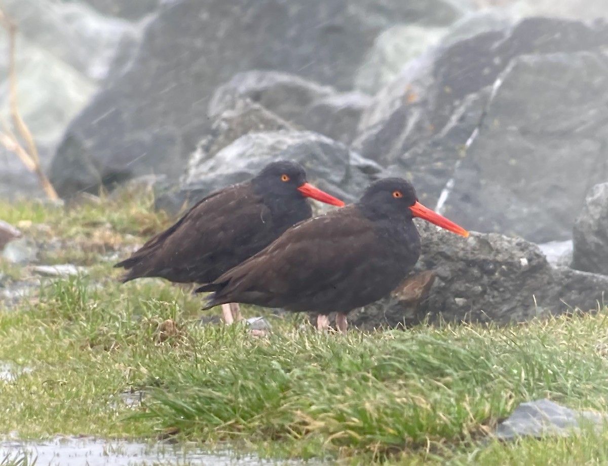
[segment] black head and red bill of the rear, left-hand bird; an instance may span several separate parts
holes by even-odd
[[[286,160],[271,162],[252,179],[252,184],[263,196],[295,199],[309,197],[326,204],[344,206],[339,199],[308,184],[304,167],[297,162]]]

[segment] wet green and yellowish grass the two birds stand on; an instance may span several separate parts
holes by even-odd
[[[143,198],[114,202],[67,213],[27,204],[7,220],[30,220],[31,231],[43,222],[78,248],[95,238],[95,215],[107,215],[103,226],[120,239],[100,241],[105,252],[142,243],[167,222]],[[536,398],[608,411],[606,309],[501,328],[347,336],[319,335],[300,328],[305,317],[287,316],[272,318],[273,333],[255,338],[241,326],[201,325],[201,299],[187,287],[121,285],[111,262],[95,254],[88,278],[47,280],[35,299],[0,310],[0,361],[18,374],[0,381],[0,433],[176,436],[346,464],[603,464],[608,457],[602,433],[488,437],[520,402]],[[246,316],[261,313],[269,315],[244,307]],[[139,389],[143,404],[131,408],[120,394]]]

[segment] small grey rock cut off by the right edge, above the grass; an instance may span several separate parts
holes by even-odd
[[[592,187],[576,218],[572,266],[608,275],[608,183]]]

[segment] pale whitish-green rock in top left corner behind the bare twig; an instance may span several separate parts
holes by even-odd
[[[119,45],[133,47],[137,26],[106,18],[81,2],[7,0],[18,25],[16,77],[19,113],[46,170],[68,123],[108,75]],[[9,117],[9,37],[0,35],[0,114]],[[0,147],[0,196],[43,196],[40,181]]]

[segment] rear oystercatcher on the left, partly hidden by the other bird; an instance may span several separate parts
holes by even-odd
[[[161,277],[177,283],[210,283],[306,220],[306,198],[334,206],[344,202],[306,183],[302,165],[272,162],[250,181],[199,201],[131,257],[114,265],[128,269],[122,282]],[[222,305],[224,321],[240,320],[238,304]]]

